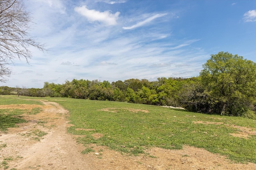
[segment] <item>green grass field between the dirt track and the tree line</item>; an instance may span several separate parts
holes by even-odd
[[[241,129],[255,131],[256,121],[252,119],[206,115],[160,106],[70,98],[0,96],[0,105],[38,102],[24,99],[50,100],[68,109],[68,119],[74,125],[68,128],[68,132],[83,135],[77,140],[87,147],[84,153],[93,150],[89,147],[90,143],[134,155],[146,154],[145,149],[150,147],[182,149],[183,145],[189,145],[228,156],[237,162],[256,163],[256,135],[245,138],[230,135],[245,131]],[[0,109],[1,124],[6,121],[2,120],[6,115],[22,119],[11,110],[1,112]],[[99,137],[95,137],[95,134]]]

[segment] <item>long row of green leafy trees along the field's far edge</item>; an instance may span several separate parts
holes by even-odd
[[[185,107],[189,111],[256,118],[256,63],[219,52],[192,78],[66,80],[44,82],[42,89],[0,87],[0,94],[110,100],[157,106]]]

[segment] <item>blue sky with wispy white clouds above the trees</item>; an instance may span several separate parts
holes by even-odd
[[[198,76],[220,51],[256,62],[255,0],[24,0],[47,51],[0,86]]]

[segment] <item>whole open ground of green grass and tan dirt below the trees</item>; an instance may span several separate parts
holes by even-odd
[[[56,143],[51,135],[58,131],[68,139]],[[14,134],[20,144],[10,139]],[[160,106],[0,96],[0,135],[0,169],[59,169],[61,161],[26,160],[34,156],[20,146],[26,143],[35,153],[45,144],[38,157],[52,143],[68,150],[59,153],[62,162],[65,154],[88,161],[64,169],[256,169],[255,120]],[[15,151],[20,158],[12,145],[23,150]]]

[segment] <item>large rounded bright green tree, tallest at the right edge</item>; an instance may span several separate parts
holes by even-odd
[[[200,72],[208,111],[222,115],[255,116],[256,63],[242,56],[219,52]]]

